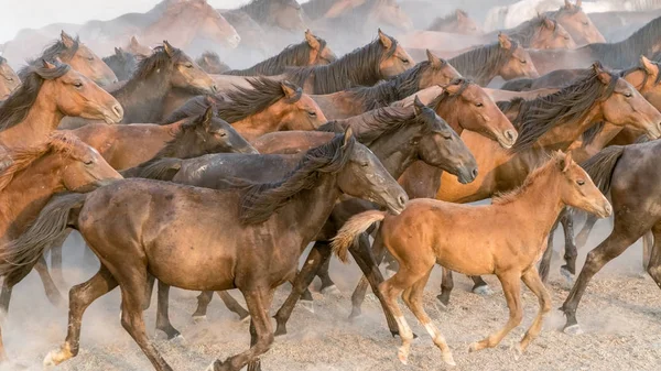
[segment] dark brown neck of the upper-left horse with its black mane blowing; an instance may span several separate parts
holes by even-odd
[[[122,122],[155,122],[170,92],[170,76],[154,72],[143,80],[129,80],[112,96],[124,109]]]

